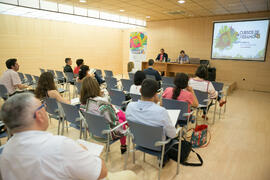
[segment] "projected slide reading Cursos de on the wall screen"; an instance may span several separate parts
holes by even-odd
[[[212,59],[264,61],[269,20],[215,22]]]

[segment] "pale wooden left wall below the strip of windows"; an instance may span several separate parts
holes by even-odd
[[[0,74],[8,58],[18,58],[20,71],[62,70],[65,57],[122,73],[122,31],[73,23],[0,15]]]

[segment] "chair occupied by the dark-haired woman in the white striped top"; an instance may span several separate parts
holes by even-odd
[[[205,114],[204,120],[206,121],[206,116],[208,114],[208,108],[209,108],[209,102],[210,102],[210,99],[208,98],[208,92],[202,92],[202,91],[194,89],[194,93],[195,93],[195,95],[198,99],[198,102],[199,102],[199,106],[197,107],[197,112],[196,112],[196,120],[198,117],[199,110],[201,108],[205,108],[206,114]]]

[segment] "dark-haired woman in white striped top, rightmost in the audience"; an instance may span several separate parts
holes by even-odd
[[[219,101],[219,105],[222,107],[226,103],[226,101],[222,100],[221,97],[218,96],[218,92],[215,90],[213,84],[210,81],[206,80],[208,77],[207,67],[205,65],[200,65],[195,75],[195,78],[189,79],[189,86],[191,86],[195,90],[208,92],[209,97],[211,99],[217,98]],[[204,109],[204,114],[206,114],[206,109]]]

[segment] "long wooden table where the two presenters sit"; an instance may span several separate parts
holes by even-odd
[[[175,76],[176,73],[195,74],[199,64],[178,64],[155,62],[154,69],[160,72],[165,72],[165,76]],[[148,62],[142,62],[142,70],[148,68]]]

